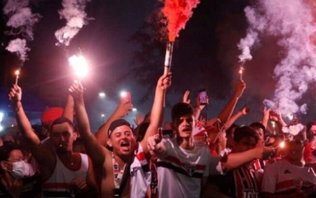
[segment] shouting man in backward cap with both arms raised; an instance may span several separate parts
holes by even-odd
[[[87,153],[95,165],[98,173],[98,180],[101,184],[101,197],[134,197],[135,189],[139,189],[137,197],[144,197],[147,185],[139,187],[139,177],[143,175],[142,170],[136,170],[130,174],[130,167],[135,161],[140,164],[146,162],[148,149],[146,142],[149,136],[157,133],[161,125],[164,95],[166,89],[171,85],[171,73],[159,78],[153,108],[151,111],[150,124],[140,143],[136,143],[130,124],[123,119],[116,119],[111,122],[108,132],[105,132],[106,124],[100,128],[98,135],[103,134],[111,151],[102,146],[90,131],[88,115],[83,101],[83,87],[80,83],[74,83],[69,91],[75,100],[75,110],[78,116],[79,133],[84,141]],[[130,101],[127,101],[130,103]],[[113,116],[111,116],[113,117]],[[103,138],[104,138],[103,137]],[[136,157],[134,155],[137,148]],[[135,180],[135,177],[139,179]]]

